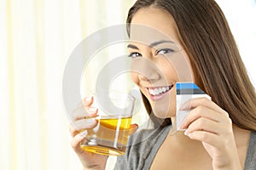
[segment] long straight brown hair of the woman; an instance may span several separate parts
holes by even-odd
[[[131,7],[126,24],[140,8],[161,8],[172,14],[183,48],[195,76],[195,83],[230,114],[237,127],[256,130],[256,94],[227,20],[213,0],[138,0]],[[143,101],[152,112],[148,99]],[[170,124],[166,119],[164,124]]]

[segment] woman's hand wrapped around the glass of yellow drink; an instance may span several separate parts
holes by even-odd
[[[73,137],[71,145],[85,169],[105,169],[108,156],[94,154],[80,147],[80,143],[86,137],[87,129],[93,128],[97,124],[94,119],[90,119],[90,117],[97,115],[97,108],[91,107],[92,103],[92,97],[85,98],[82,101],[82,105],[79,105],[79,107],[73,111],[73,123],[69,126],[69,132]],[[130,134],[136,132],[136,130],[137,125],[131,125]]]

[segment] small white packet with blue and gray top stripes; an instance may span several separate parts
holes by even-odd
[[[177,82],[176,83],[176,128],[177,131],[183,131],[181,129],[185,116],[189,111],[179,111],[181,106],[189,99],[202,98],[212,100],[212,98],[206,94],[201,88],[199,88],[194,82]]]

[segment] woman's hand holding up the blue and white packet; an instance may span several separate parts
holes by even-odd
[[[190,139],[202,142],[214,170],[241,170],[232,121],[226,111],[207,98],[191,99],[180,110],[190,110],[181,128],[187,128],[185,134]]]

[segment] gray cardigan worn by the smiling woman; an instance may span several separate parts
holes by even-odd
[[[171,126],[141,130],[131,135],[125,156],[117,158],[115,170],[148,170]],[[256,132],[251,133],[244,170],[256,170]]]

